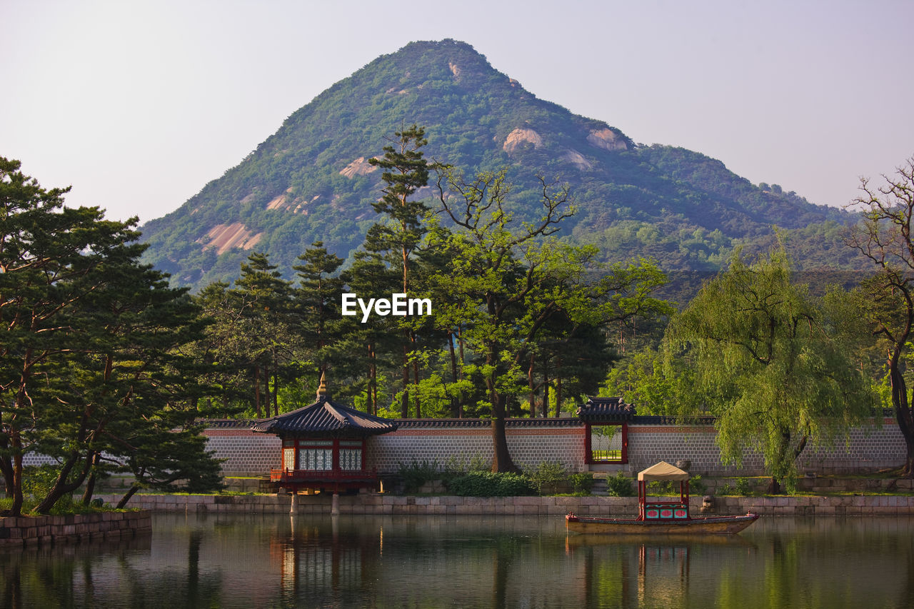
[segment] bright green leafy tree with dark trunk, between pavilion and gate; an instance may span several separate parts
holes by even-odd
[[[545,239],[574,208],[567,187],[557,189],[543,179],[540,185],[540,220],[522,223],[507,208],[510,186],[504,172],[467,181],[442,170],[438,181],[441,210],[460,230],[437,236],[449,263],[434,283],[451,294],[439,310],[451,309],[446,315],[462,318],[464,340],[479,360],[473,371],[486,388],[496,472],[515,469],[505,418],[509,404],[525,385],[529,389],[524,369],[548,323],[564,315],[571,325],[599,326],[649,308],[650,290],[637,284],[650,272],[618,267],[590,281],[586,271],[595,248]]]

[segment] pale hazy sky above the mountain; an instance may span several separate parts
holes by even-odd
[[[165,215],[337,80],[455,38],[537,97],[813,203],[914,155],[914,2],[0,0],[0,156]]]

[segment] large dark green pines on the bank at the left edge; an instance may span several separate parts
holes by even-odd
[[[135,219],[64,208],[65,192],[0,158],[0,463],[13,515],[27,452],[58,462],[36,508],[47,513],[163,412],[194,416],[179,351],[199,330],[186,290],[139,264]]]

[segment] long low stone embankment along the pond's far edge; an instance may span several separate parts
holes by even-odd
[[[118,497],[101,497],[107,502]],[[300,495],[298,514],[330,514],[330,495]],[[911,516],[914,497],[714,497],[713,514],[763,516]],[[289,495],[135,495],[133,508],[151,511],[288,514]],[[381,494],[341,496],[341,514],[440,516],[626,516],[637,514],[636,497],[403,497]],[[692,513],[701,512],[702,497],[692,497]]]

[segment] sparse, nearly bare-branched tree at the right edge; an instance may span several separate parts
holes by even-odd
[[[873,262],[877,276],[864,284],[866,318],[887,348],[887,372],[898,430],[905,439],[901,475],[914,477],[914,411],[905,379],[914,331],[914,157],[898,167],[885,184],[861,180],[863,194],[856,204],[863,221],[851,230],[848,243]]]

